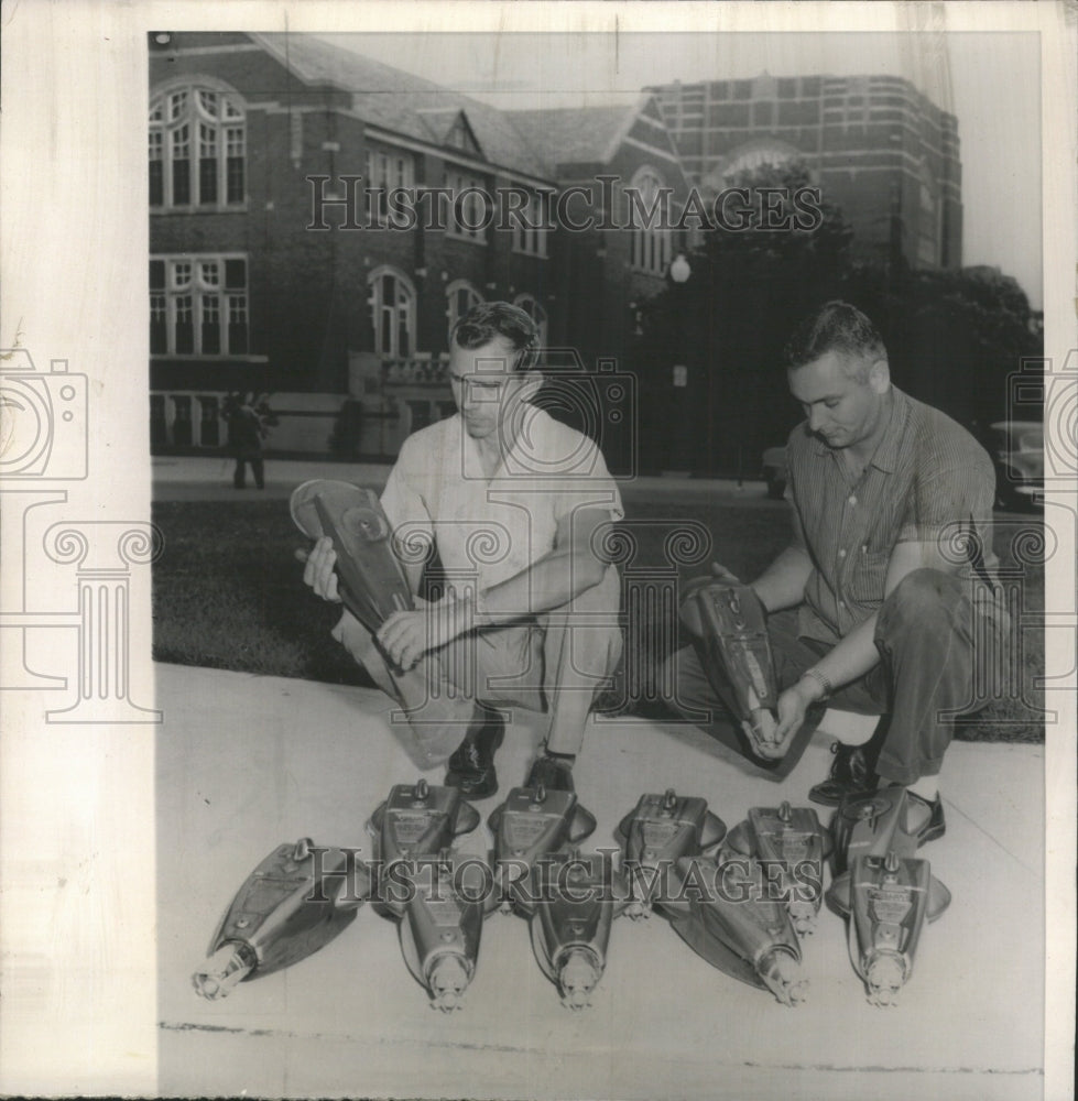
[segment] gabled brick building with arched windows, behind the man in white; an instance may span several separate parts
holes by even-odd
[[[218,447],[225,396],[255,391],[273,450],[392,456],[453,411],[448,329],[483,299],[588,370],[632,366],[635,305],[678,242],[612,228],[627,184],[687,192],[651,96],[504,112],[309,36],[151,34],[152,447]],[[394,188],[429,199],[412,224]],[[526,217],[487,225],[499,190]]]

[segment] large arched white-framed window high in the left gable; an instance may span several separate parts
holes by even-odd
[[[242,204],[246,160],[247,117],[235,94],[189,84],[151,99],[151,209]]]

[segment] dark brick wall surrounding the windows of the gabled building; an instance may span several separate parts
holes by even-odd
[[[512,233],[493,228],[486,242],[437,230],[312,229],[316,185],[308,176],[328,176],[330,184],[345,175],[363,176],[360,187],[366,184],[369,139],[364,122],[346,113],[349,97],[331,88],[306,87],[262,51],[246,48],[244,35],[174,37],[181,47],[237,46],[236,52],[198,55],[151,51],[150,83],[153,92],[166,83],[205,76],[242,98],[247,201],[221,211],[151,214],[151,253],[230,251],[248,258],[251,355],[241,361],[154,357],[154,392],[241,389],[286,394],[286,416],[271,446],[294,450],[327,439],[339,412],[335,402],[342,407],[348,395],[350,360],[374,348],[369,280],[381,265],[400,271],[414,286],[413,351],[437,356],[446,350],[446,287],[467,280],[488,301],[534,296],[548,316],[549,342],[577,347],[589,367],[602,358],[627,370],[653,369],[632,360],[634,317],[629,303],[656,293],[663,279],[632,269],[629,231],[554,230],[547,235],[544,259],[514,251]],[[661,127],[639,122],[634,134],[660,149],[674,149]],[[382,139],[370,141],[379,144]],[[442,186],[451,155],[414,146],[409,143],[416,183]],[[622,145],[610,163],[597,163],[592,171],[628,182],[645,163],[684,198],[687,184],[680,166],[635,145]],[[487,185],[511,182],[504,171],[488,166]],[[362,195],[358,206],[362,222]],[[339,206],[325,208],[328,226],[340,227],[344,220]],[[309,395],[309,407],[304,394]],[[431,399],[435,411],[440,407],[437,396]],[[449,397],[447,388],[442,397]],[[364,405],[372,415],[383,416],[389,408],[400,414],[391,428],[378,426],[383,443],[396,440],[407,427],[411,414],[401,412],[400,402],[379,397]],[[369,428],[364,432],[371,435]],[[611,461],[617,465],[616,458]]]

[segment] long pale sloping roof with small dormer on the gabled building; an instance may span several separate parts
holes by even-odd
[[[352,109],[373,126],[427,144],[445,145],[455,120],[464,112],[466,126],[488,163],[526,176],[554,178],[553,164],[525,141],[511,117],[481,100],[309,34],[250,37],[304,84],[329,85],[348,94]]]

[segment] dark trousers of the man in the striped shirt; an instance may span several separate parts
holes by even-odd
[[[783,689],[831,648],[798,634],[795,609],[770,615],[767,634]],[[879,748],[875,768],[883,780],[912,784],[934,776],[950,744],[955,718],[984,702],[986,686],[994,694],[993,674],[1005,665],[999,661],[1005,634],[1005,613],[993,601],[974,599],[970,581],[934,569],[914,570],[880,608],[875,629],[880,664],[836,691],[827,706],[886,717],[873,735]],[[704,661],[699,644],[669,658],[673,668],[664,683],[676,686],[675,709],[773,778],[788,775],[821,711],[810,712],[781,761],[764,761],[755,756],[740,723],[719,701]]]

